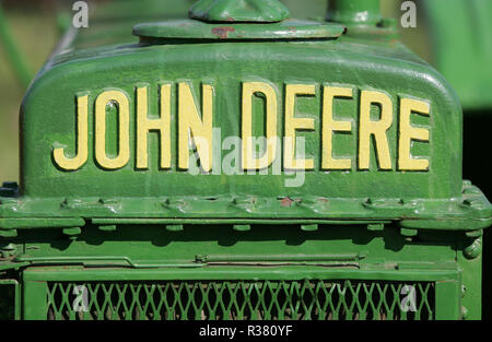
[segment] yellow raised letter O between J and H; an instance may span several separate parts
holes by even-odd
[[[106,154],[106,106],[109,103],[117,105],[119,122],[118,155],[113,158]],[[130,160],[130,105],[127,95],[120,91],[106,91],[96,98],[95,156],[107,169],[121,168]]]

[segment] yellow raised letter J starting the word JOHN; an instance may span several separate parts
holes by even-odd
[[[52,151],[52,157],[59,167],[67,170],[74,170],[87,161],[89,145],[87,145],[87,130],[89,130],[89,109],[87,109],[89,96],[77,97],[77,155],[73,158],[65,156],[63,149],[55,149]]]

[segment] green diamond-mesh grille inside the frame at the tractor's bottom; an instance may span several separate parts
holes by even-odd
[[[49,282],[47,319],[430,320],[434,298],[432,282]]]

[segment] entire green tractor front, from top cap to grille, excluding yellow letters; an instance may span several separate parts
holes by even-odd
[[[203,1],[195,10],[219,5],[208,20],[222,22],[222,2],[241,4]],[[186,11],[167,21],[174,13],[163,11],[161,19],[154,9],[133,17],[122,10],[113,21],[110,11],[102,11],[91,30],[69,31],[23,101],[21,185],[0,189],[0,272],[22,284],[24,319],[78,318],[74,286],[89,291],[91,310],[80,314],[87,319],[480,318],[481,236],[492,223],[492,205],[462,180],[460,104],[447,81],[395,38],[377,1],[337,2],[338,19],[328,19],[342,24],[265,17],[245,23],[262,11],[233,11],[245,16],[227,24],[186,20]],[[366,20],[355,21],[364,10]],[[283,19],[282,10],[277,14]],[[227,149],[213,154],[208,174],[179,166],[179,106],[186,97],[179,84],[189,86],[199,111],[206,107],[203,85],[213,89],[212,126],[221,129],[213,149],[221,149],[226,138],[242,134],[246,82],[268,84],[274,93],[280,137],[288,87],[314,90],[297,96],[293,109],[314,122],[314,130],[297,131],[305,156],[314,160],[298,187],[285,186],[293,176],[285,167],[277,174],[273,165],[263,174],[225,174]],[[171,167],[160,167],[162,148],[152,133],[150,164],[141,168],[138,89],[148,89],[148,110],[157,118],[164,85],[171,90]],[[351,163],[344,170],[321,165],[329,86],[353,94],[332,106],[335,120],[352,127],[333,134],[333,157]],[[95,152],[96,102],[107,91],[124,94],[129,109],[129,158],[115,169],[102,166]],[[374,141],[368,169],[360,167],[363,92],[383,93],[390,103],[388,169],[382,169]],[[87,158],[69,170],[56,164],[54,150],[63,149],[66,157],[79,152],[83,96]],[[411,115],[414,128],[430,131],[429,142],[410,146],[412,156],[430,161],[429,168],[400,167],[402,98],[430,105],[429,116]],[[251,106],[255,135],[266,130],[262,101],[255,96]],[[121,106],[103,108],[105,153],[114,157],[121,148]],[[372,121],[379,120],[379,109],[370,107]],[[409,288],[419,298],[414,312],[401,309]]]

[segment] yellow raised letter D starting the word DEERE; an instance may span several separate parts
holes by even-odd
[[[265,95],[267,108],[267,151],[260,158],[253,153],[253,96],[256,93]],[[273,162],[277,153],[277,93],[273,87],[263,82],[243,83],[243,169],[262,169]]]

